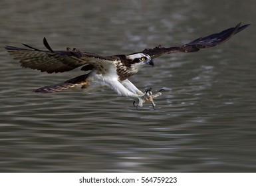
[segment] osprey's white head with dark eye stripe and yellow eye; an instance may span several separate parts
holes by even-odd
[[[146,64],[154,66],[154,61],[148,54],[134,53],[126,55],[126,58],[130,61],[130,66],[131,68],[134,68],[134,70],[140,70],[140,68],[142,68]]]

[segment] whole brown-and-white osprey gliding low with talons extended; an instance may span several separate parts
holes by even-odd
[[[128,80],[130,76],[136,74],[142,67],[148,64],[154,66],[153,59],[158,56],[174,52],[197,52],[201,48],[220,45],[248,26],[249,24],[241,26],[241,23],[239,23],[235,27],[207,37],[200,37],[182,46],[165,48],[159,45],[155,48],[146,48],[142,52],[114,56],[100,56],[69,47],[66,50],[53,50],[45,38],[43,39],[43,44],[48,50],[39,50],[25,44],[23,45],[28,48],[5,46],[5,49],[8,50],[14,59],[18,59],[21,62],[21,66],[25,68],[41,70],[41,72],[47,73],[57,73],[82,66],[81,70],[89,71],[87,74],[77,76],[65,82],[38,88],[34,92],[52,93],[66,89],[82,89],[84,92],[89,93],[108,87],[120,96],[128,96],[138,100],[137,106],[134,101],[134,106],[137,109],[139,106],[142,107],[144,102],[151,102],[155,109],[154,98],[160,96],[163,89],[156,94],[152,94],[151,88],[147,88],[142,92]]]

